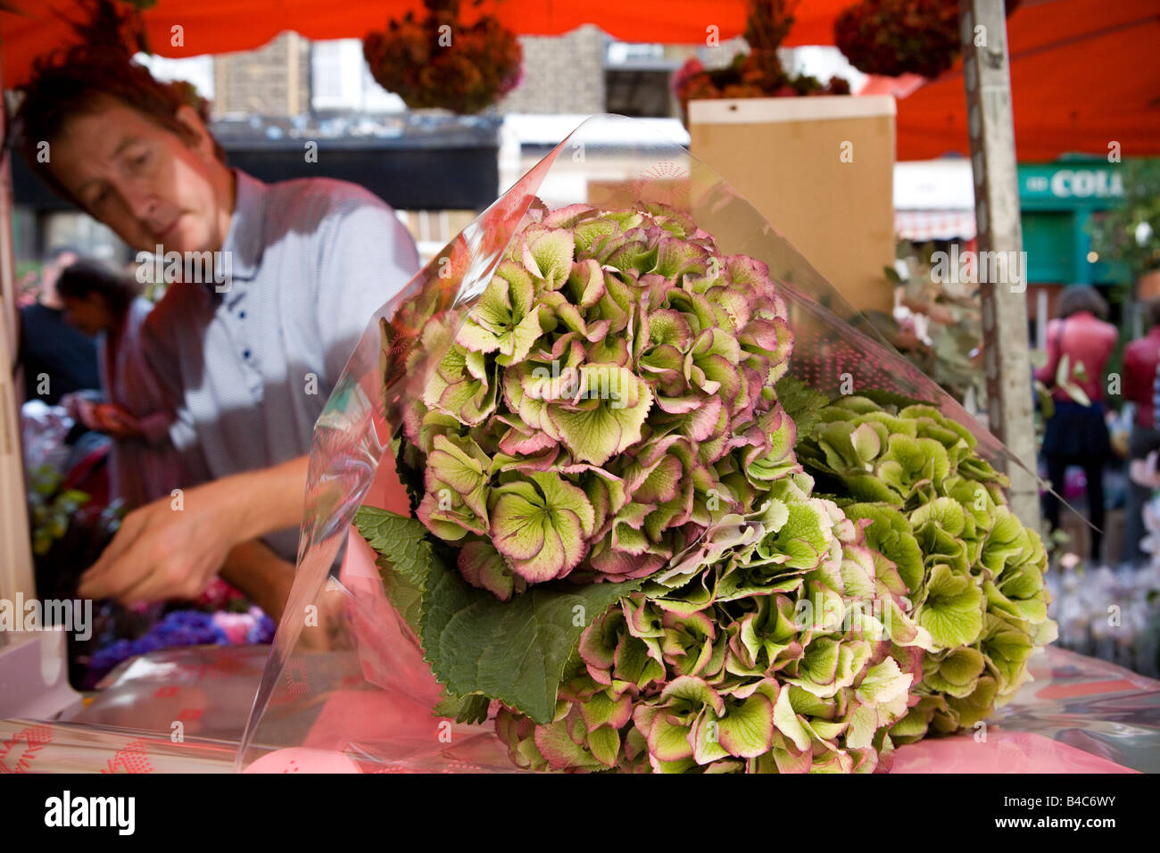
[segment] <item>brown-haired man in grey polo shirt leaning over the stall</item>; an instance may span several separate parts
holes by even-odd
[[[145,330],[180,392],[174,442],[208,482],[180,512],[162,500],[126,516],[80,594],[196,597],[229,558],[262,566],[284,603],[288,572],[239,555],[264,537],[293,559],[314,420],[371,315],[418,270],[414,241],[361,187],[230,169],[179,91],[123,57],[74,49],[39,66],[17,122],[30,165],[135,251],[222,253],[212,281],[173,285]]]

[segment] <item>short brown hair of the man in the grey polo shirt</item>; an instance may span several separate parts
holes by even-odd
[[[104,102],[113,100],[175,133],[187,145],[191,144],[189,128],[177,121],[177,110],[193,107],[202,122],[209,124],[204,99],[191,102],[191,91],[182,81],[154,80],[148,68],[123,51],[85,44],[57,50],[37,59],[32,79],[20,87],[22,99],[13,120],[16,146],[41,180],[84,209],[85,205],[56,179],[49,164],[39,161],[41,143],[51,145],[70,120],[99,113]],[[213,153],[222,162],[226,161],[225,150],[217,139],[213,139]]]

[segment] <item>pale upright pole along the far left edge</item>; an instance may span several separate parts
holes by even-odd
[[[0,57],[2,59],[2,57]],[[2,62],[0,62],[2,67]],[[0,95],[3,77],[0,72]],[[8,115],[0,109],[0,131],[7,135]],[[20,396],[13,382],[16,361],[16,288],[12,239],[10,154],[0,151],[0,598],[13,601],[36,595],[32,551],[28,535],[24,493],[24,455],[20,436]],[[3,645],[3,638],[0,638]]]

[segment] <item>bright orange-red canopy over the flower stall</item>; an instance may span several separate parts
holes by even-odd
[[[28,16],[0,14],[3,80],[27,79],[32,59],[68,41],[52,15],[75,16],[74,0],[15,0]],[[831,44],[834,16],[854,0],[802,0],[788,44]],[[248,50],[283,30],[307,38],[361,37],[418,0],[158,0],[144,13],[150,46],[166,57]],[[464,3],[466,13],[472,9]],[[515,31],[566,32],[595,23],[625,41],[724,41],[745,24],[744,0],[501,0],[488,3]],[[180,44],[173,28],[181,27]],[[1021,160],[1063,152],[1160,154],[1160,7],[1157,0],[1023,0],[1008,21],[1015,140]],[[891,91],[875,80],[872,89]],[[960,64],[898,103],[898,159],[967,153]]]

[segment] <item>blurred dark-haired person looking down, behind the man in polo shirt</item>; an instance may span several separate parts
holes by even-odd
[[[181,456],[169,440],[175,420],[148,368],[142,327],[153,305],[137,282],[99,261],[78,261],[60,274],[65,321],[96,335],[103,402],[73,396],[70,413],[113,439],[110,490],[126,509],[168,497],[184,485]]]

